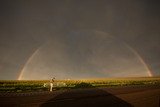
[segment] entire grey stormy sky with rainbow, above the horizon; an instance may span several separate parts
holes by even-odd
[[[1,0],[0,79],[160,76],[159,0]]]

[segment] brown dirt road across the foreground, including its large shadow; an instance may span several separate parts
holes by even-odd
[[[0,94],[0,107],[160,107],[158,87]]]

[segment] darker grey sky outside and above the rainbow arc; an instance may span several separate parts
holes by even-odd
[[[69,32],[86,29],[126,42],[160,75],[159,13],[158,0],[1,0],[0,79],[17,79],[29,57],[48,40],[65,43]]]

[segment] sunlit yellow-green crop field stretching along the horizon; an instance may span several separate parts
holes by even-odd
[[[55,80],[54,82],[54,90],[117,86],[160,86],[160,78],[108,78]],[[49,91],[49,80],[0,80],[1,93],[34,91]]]

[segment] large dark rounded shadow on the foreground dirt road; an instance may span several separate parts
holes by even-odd
[[[133,107],[131,104],[101,89],[66,91],[40,107]]]

